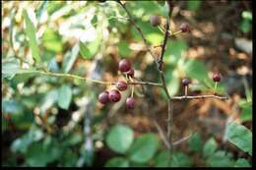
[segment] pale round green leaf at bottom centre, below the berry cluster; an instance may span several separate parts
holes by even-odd
[[[117,153],[125,153],[133,142],[133,131],[128,126],[116,125],[106,136],[106,144]]]

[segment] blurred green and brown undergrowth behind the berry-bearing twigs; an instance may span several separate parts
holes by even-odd
[[[213,94],[212,75],[221,73],[217,91],[229,99],[173,102],[173,141],[191,137],[175,146],[171,166],[235,166],[238,158],[249,166],[251,156],[224,133],[231,121],[252,128],[251,1],[173,2],[171,30],[187,23],[191,31],[168,40],[169,92],[183,95],[186,77],[189,94]],[[159,53],[154,46],[163,33],[149,19],[159,15],[164,27],[164,2],[123,3]],[[114,82],[124,79],[118,62],[126,58],[136,78],[160,83],[153,58],[118,3],[4,1],[1,30],[3,166],[168,166],[169,153],[150,116],[166,131],[166,97],[159,87],[147,86],[143,97],[136,86],[136,107],[127,110],[130,88],[119,102],[103,106],[97,95],[111,85],[25,72],[47,69]]]

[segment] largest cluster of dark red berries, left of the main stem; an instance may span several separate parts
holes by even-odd
[[[118,65],[119,71],[126,74],[128,78],[134,78],[134,69],[130,61],[123,59],[119,62]],[[121,99],[120,91],[126,90],[128,87],[127,83],[124,81],[118,81],[115,84],[116,89],[111,89],[109,91],[105,90],[98,95],[98,101],[101,104],[107,104],[108,102],[118,102]],[[133,109],[135,106],[135,99],[133,98],[133,91],[132,96],[126,99],[126,108]]]

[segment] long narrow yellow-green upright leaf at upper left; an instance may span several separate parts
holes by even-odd
[[[35,59],[36,62],[40,62],[40,56],[39,56],[39,48],[38,44],[36,41],[36,36],[35,36],[35,28],[32,25],[32,21],[28,16],[28,13],[26,10],[23,11],[23,17],[25,18],[25,32],[29,38],[29,45],[32,50],[32,57]]]

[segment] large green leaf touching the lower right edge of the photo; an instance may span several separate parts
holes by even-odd
[[[228,142],[252,155],[252,133],[246,127],[234,122],[228,123],[224,137]]]

